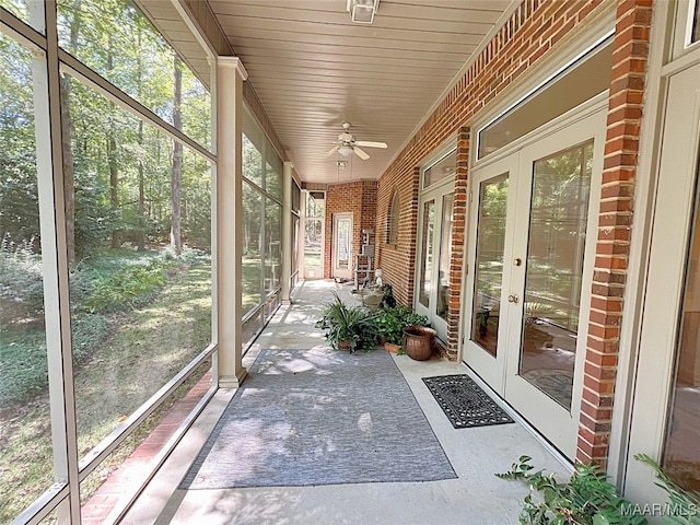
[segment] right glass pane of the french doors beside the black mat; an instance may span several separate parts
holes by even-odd
[[[565,408],[579,329],[593,141],[534,163],[521,375]]]

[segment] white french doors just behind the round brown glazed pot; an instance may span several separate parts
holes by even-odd
[[[447,338],[447,291],[452,258],[454,182],[421,195],[415,310],[428,316],[438,337]]]

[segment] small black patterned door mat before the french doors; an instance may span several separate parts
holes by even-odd
[[[455,429],[513,422],[468,375],[423,377],[423,383]]]

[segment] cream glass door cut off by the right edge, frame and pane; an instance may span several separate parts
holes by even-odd
[[[668,80],[625,492],[667,501],[652,456],[700,490],[700,63]]]

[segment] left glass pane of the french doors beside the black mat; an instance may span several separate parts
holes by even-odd
[[[479,188],[471,340],[495,355],[503,282],[508,173]]]

